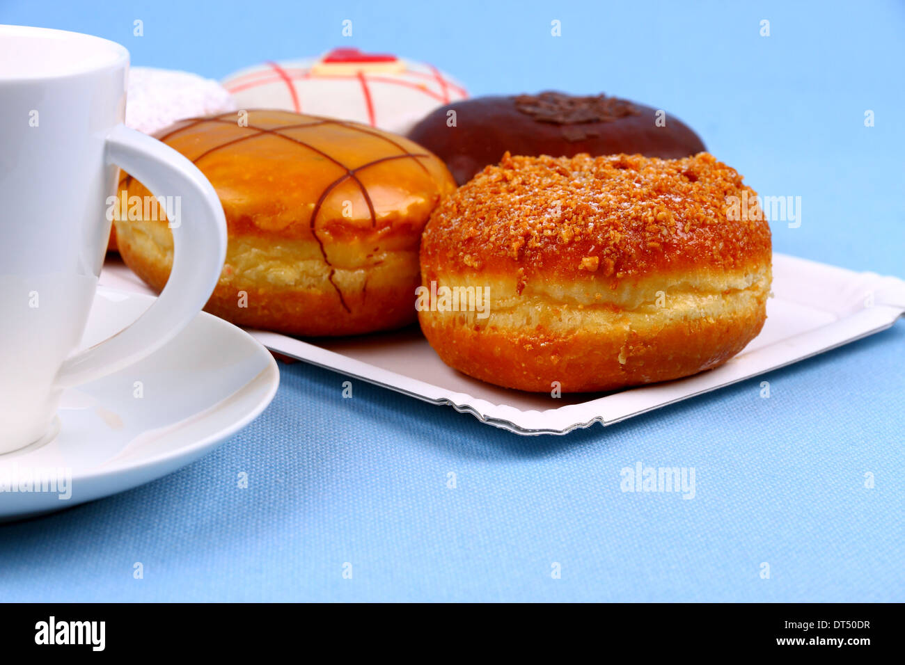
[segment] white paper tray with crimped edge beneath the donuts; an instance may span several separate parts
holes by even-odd
[[[149,293],[119,261],[100,283]],[[890,328],[905,313],[905,281],[854,272],[785,254],[773,255],[767,323],[725,365],[676,381],[610,394],[529,394],[482,383],[443,365],[418,328],[305,342],[249,330],[265,347],[313,365],[382,385],[431,404],[449,404],[481,423],[517,434],[565,434],[594,423],[618,423],[815,356]]]

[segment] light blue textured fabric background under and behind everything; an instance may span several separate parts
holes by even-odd
[[[898,2],[229,5],[3,0],[0,22],[215,78],[353,45],[473,94],[605,90],[684,119],[761,194],[800,195],[777,251],[905,277]],[[271,407],[203,460],[0,526],[0,600],[902,601],[903,351],[899,322],[767,375],[769,399],[757,378],[558,438],[281,366]],[[694,499],[621,491],[638,461],[694,467]]]

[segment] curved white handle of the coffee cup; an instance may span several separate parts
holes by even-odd
[[[55,385],[70,387],[117,372],[186,328],[214,291],[226,256],[226,218],[214,187],[171,147],[118,125],[107,137],[107,162],[122,166],[155,195],[182,197],[173,232],[173,271],[157,300],[128,328],[69,357]]]

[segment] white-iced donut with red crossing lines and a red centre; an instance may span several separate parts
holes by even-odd
[[[352,48],[266,62],[230,74],[223,85],[239,109],[312,113],[397,134],[432,109],[468,97],[462,84],[433,65]]]

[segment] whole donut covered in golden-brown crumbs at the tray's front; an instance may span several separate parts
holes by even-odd
[[[421,272],[418,318],[446,365],[525,391],[612,391],[722,365],[757,336],[770,229],[707,153],[506,154],[433,212]]]

